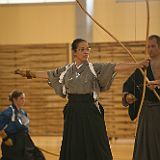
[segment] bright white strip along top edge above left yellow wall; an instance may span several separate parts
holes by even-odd
[[[75,0],[0,0],[0,4],[62,3],[62,2],[75,2]]]

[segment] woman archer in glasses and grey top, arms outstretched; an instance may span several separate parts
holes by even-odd
[[[60,160],[112,160],[99,93],[110,88],[118,72],[148,66],[149,60],[133,64],[90,63],[86,40],[72,43],[74,63],[48,72],[16,70],[28,78],[46,78],[55,92],[67,98]]]

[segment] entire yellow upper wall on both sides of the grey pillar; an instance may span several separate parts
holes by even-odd
[[[145,39],[145,2],[94,1],[93,16],[119,40]],[[76,5],[0,6],[0,44],[70,43],[77,31]],[[150,15],[150,34],[160,35],[160,1],[150,2]],[[94,24],[93,42],[106,41],[113,39]]]

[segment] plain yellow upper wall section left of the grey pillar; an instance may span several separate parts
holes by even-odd
[[[0,7],[0,44],[64,43],[75,35],[75,5]]]

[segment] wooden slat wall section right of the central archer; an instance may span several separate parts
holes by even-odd
[[[123,42],[133,53],[137,60],[144,58],[144,42]],[[90,56],[93,62],[133,62],[126,51],[115,42],[90,44],[92,53]],[[131,122],[127,108],[121,104],[122,84],[131,73],[117,74],[109,91],[100,96],[100,102],[105,109],[105,122],[110,138],[134,137],[135,123]]]

